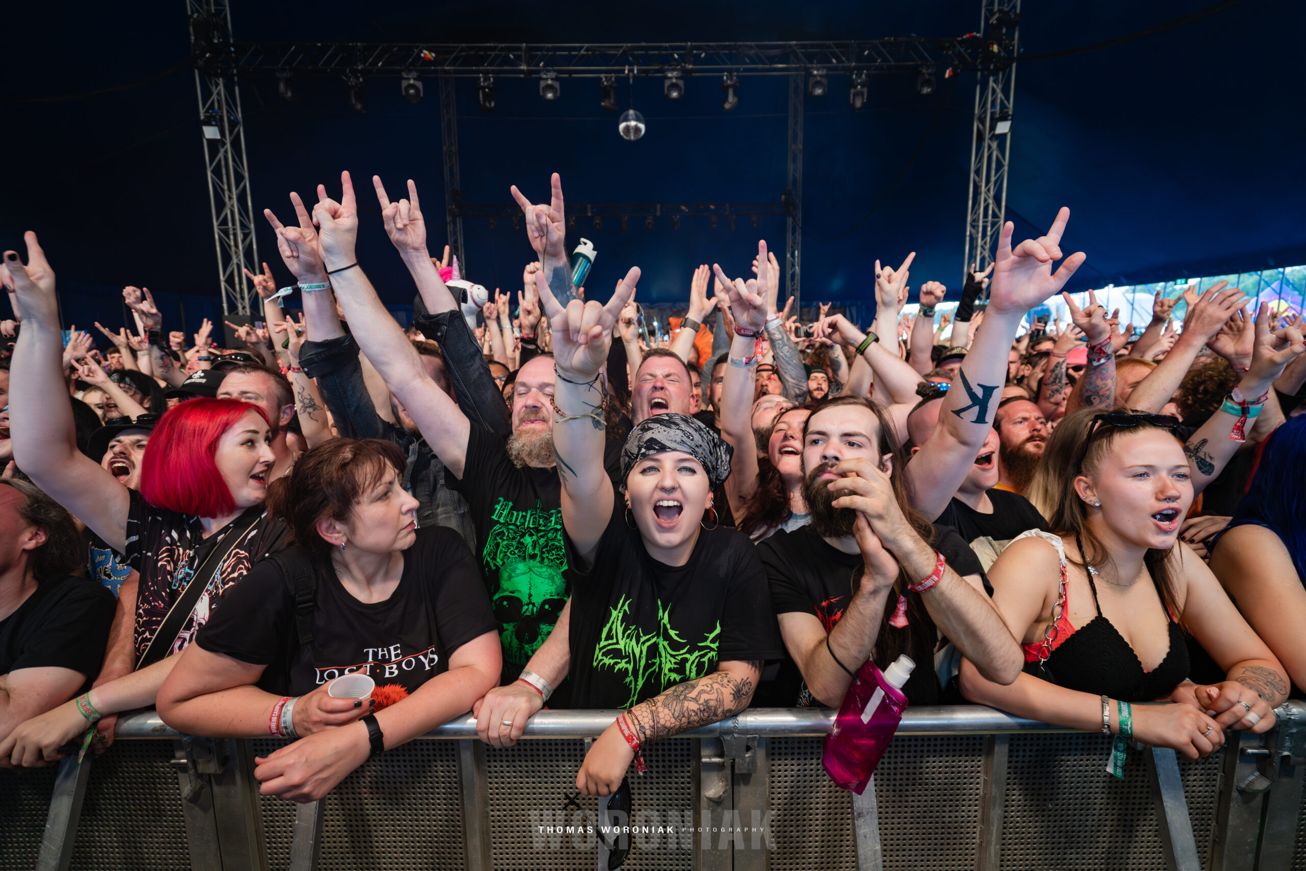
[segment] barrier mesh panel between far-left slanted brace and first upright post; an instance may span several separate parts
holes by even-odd
[[[191,867],[182,789],[171,759],[170,740],[120,740],[95,759],[71,868]]]

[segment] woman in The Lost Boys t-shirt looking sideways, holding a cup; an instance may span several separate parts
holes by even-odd
[[[264,795],[316,800],[499,680],[475,559],[452,529],[417,529],[404,464],[380,439],[302,454],[268,499],[293,547],[223,598],[159,691],[159,716],[187,734],[298,738],[257,760]],[[376,684],[370,699],[329,695],[355,674]]]

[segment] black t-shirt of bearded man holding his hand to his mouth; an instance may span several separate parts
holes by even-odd
[[[935,525],[930,545],[943,554],[948,567],[957,575],[982,575],[980,560],[956,530]],[[853,572],[862,564],[862,555],[845,554],[818,535],[811,526],[791,533],[778,531],[757,545],[757,550],[761,552],[761,563],[771,582],[771,598],[776,614],[814,614],[829,633],[848,607],[853,590]],[[906,595],[919,599],[921,594],[909,592]],[[897,597],[891,593],[884,603],[885,612],[896,607]],[[884,632],[906,632],[908,639],[905,641],[885,639]],[[925,609],[910,607],[909,624],[901,629],[885,627],[876,641],[872,658],[878,667],[884,669],[897,658],[895,653],[897,646],[904,646],[905,653],[916,661],[916,670],[904,688],[913,705],[939,703],[939,682],[934,673],[936,639],[938,629]],[[854,667],[853,663],[848,666]],[[774,684],[764,693],[768,704],[819,704],[812,700],[791,658],[781,666]]]

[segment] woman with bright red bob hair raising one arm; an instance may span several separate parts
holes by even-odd
[[[264,509],[274,457],[257,406],[192,400],[170,410],[145,448],[140,492],[77,449],[72,407],[59,400],[67,390],[55,274],[34,232],[26,243],[27,265],[7,251],[0,269],[22,317],[10,371],[14,460],[125,554],[140,584],[131,615],[135,669],[14,729],[0,743],[0,756],[16,764],[59,759],[59,747],[91,725],[94,738],[107,742],[111,726],[102,717],[153,705],[176,654],[208,622],[217,598],[286,539],[285,525]],[[120,609],[132,607],[128,598],[119,599]]]

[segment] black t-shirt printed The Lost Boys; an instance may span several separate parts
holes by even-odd
[[[498,628],[466,542],[447,526],[423,526],[384,602],[359,602],[334,571],[319,576],[311,644],[299,644],[295,595],[272,560],[222,597],[195,641],[210,653],[270,666],[259,680],[270,692],[303,695],[360,671],[379,688],[398,684],[413,693],[449,670],[451,653]]]

